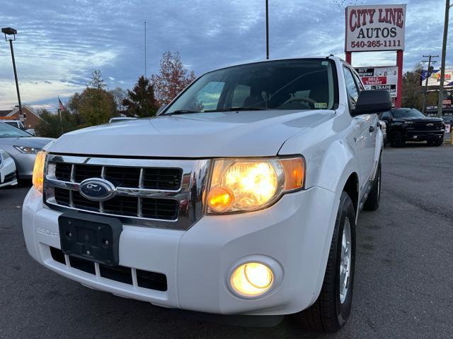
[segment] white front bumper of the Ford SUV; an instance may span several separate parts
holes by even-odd
[[[60,248],[58,217],[30,189],[23,205],[23,232],[30,256],[83,285],[152,304],[212,314],[292,314],[309,307],[323,282],[338,201],[313,187],[283,196],[253,213],[201,218],[187,231],[123,225],[120,266],[164,273],[166,291],[149,290],[86,273],[55,261]],[[272,258],[282,277],[268,295],[242,299],[228,287],[234,263],[251,256]]]

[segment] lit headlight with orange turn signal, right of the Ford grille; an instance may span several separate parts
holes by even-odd
[[[207,213],[246,212],[266,208],[282,194],[304,186],[304,160],[214,160]]]

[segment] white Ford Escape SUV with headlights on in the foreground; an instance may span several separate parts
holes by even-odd
[[[38,153],[28,252],[122,297],[338,331],[357,215],[379,206],[375,113],[390,108],[337,57],[206,73],[159,117],[73,131]]]

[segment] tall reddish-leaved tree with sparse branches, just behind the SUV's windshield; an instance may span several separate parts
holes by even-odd
[[[178,93],[195,80],[195,73],[183,66],[179,52],[165,52],[159,74],[151,76],[154,95],[159,105],[168,104]]]

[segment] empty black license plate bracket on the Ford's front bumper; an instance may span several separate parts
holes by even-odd
[[[63,213],[58,218],[59,239],[64,254],[105,266],[120,261],[120,220],[83,213]]]

